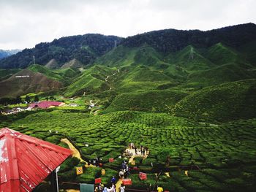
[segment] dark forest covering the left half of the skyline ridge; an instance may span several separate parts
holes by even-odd
[[[108,52],[118,43],[120,37],[104,36],[101,34],[85,34],[54,39],[53,42],[41,42],[32,49],[25,49],[16,55],[0,60],[0,68],[25,69],[33,64],[33,56],[37,64],[47,64],[55,59],[59,64],[64,64],[73,58],[83,64],[91,64],[95,58]]]

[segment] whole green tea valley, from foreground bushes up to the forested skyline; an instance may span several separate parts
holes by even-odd
[[[149,153],[128,163],[127,191],[254,191],[255,39],[247,23],[41,43],[0,60],[0,110],[64,105],[1,114],[0,125],[79,153],[61,165],[63,191],[99,177],[110,186],[130,143]],[[95,158],[101,166],[88,166]]]

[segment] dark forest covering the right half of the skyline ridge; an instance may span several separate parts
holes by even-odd
[[[176,52],[187,45],[195,47],[211,47],[222,42],[230,47],[240,47],[256,38],[254,23],[229,26],[211,31],[165,29],[138,34],[123,39],[122,45],[139,47],[144,43],[154,47],[162,53]]]

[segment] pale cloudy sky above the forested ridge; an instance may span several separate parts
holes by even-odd
[[[0,0],[0,49],[60,37],[256,23],[255,0]]]

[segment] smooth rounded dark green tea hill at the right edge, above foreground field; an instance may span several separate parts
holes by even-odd
[[[196,120],[229,121],[256,117],[256,80],[204,88],[181,99],[173,115]]]

